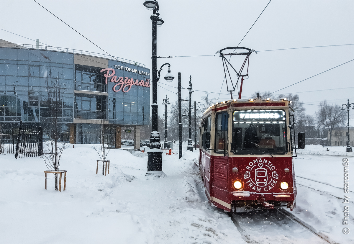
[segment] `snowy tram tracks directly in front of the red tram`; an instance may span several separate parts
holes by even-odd
[[[252,232],[253,232],[254,228],[257,228],[257,226],[255,226],[253,222],[252,223],[245,222],[245,220],[249,221],[249,219],[247,217],[245,217],[245,215],[247,215],[247,213],[228,213],[228,215],[232,219],[235,227],[241,233],[241,236],[245,240],[245,242],[250,243],[250,244],[263,244],[263,243],[265,243],[264,240],[257,240],[257,237],[256,237],[256,239],[254,238],[254,235]],[[279,233],[280,233],[279,238],[283,238],[283,239],[282,240],[280,240],[280,239],[279,240],[269,240],[267,238],[268,239],[267,243],[268,242],[269,243],[277,243],[277,241],[279,243],[283,243],[284,238],[288,238],[286,243],[297,243],[296,236],[299,233],[298,227],[300,227],[300,228],[305,229],[307,232],[312,233],[312,235],[314,235],[316,238],[319,238],[321,240],[320,243],[339,244],[339,243],[331,240],[325,234],[322,234],[322,233],[316,231],[316,229],[314,227],[303,222],[298,217],[294,216],[291,212],[289,212],[283,208],[276,208],[274,210],[261,210],[258,212],[254,211],[254,212],[252,212],[252,214],[249,218],[251,218],[251,217],[253,219],[261,220],[261,221],[259,221],[259,227],[261,229],[267,229],[267,228],[273,229],[273,228],[275,228],[275,226],[279,227]],[[291,223],[289,223],[289,221],[291,221],[293,223],[293,225],[291,225]],[[250,226],[252,227],[252,228],[250,228],[250,230],[247,230],[247,224],[250,224]],[[290,228],[283,228],[283,226],[289,226],[289,225],[291,226]],[[274,236],[276,236],[276,235],[274,235]],[[311,234],[310,234],[310,236],[311,236]],[[293,238],[290,239],[289,237],[293,237]],[[313,238],[313,236],[310,237],[311,240],[309,240],[308,243],[319,243],[319,242],[314,242],[314,239],[312,239],[312,238]]]

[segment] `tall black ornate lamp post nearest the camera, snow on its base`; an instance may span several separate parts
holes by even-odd
[[[165,75],[165,80],[167,82],[171,82],[175,77],[171,74],[170,64],[165,63],[161,66],[160,70],[157,69],[157,55],[156,55],[156,28],[164,23],[164,21],[159,17],[159,4],[157,1],[148,0],[144,1],[144,6],[148,10],[153,10],[153,15],[150,16],[153,28],[152,28],[152,87],[153,87],[153,103],[151,104],[152,108],[152,132],[150,134],[150,149],[147,151],[148,153],[148,172],[147,175],[159,175],[162,172],[162,159],[161,154],[162,150],[160,149],[160,134],[158,132],[158,104],[157,104],[157,82],[160,79],[160,72],[162,67],[166,64],[169,66],[168,73]],[[153,171],[161,171],[161,172],[153,172]]]

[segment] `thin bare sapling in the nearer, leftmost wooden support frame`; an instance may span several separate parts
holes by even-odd
[[[58,130],[58,117],[62,117],[63,96],[67,90],[65,83],[61,83],[58,78],[53,78],[50,81],[46,79],[47,103],[50,108],[51,122],[51,140],[44,143],[44,152],[41,158],[49,170],[58,171],[60,159],[67,143],[59,143],[58,139],[60,131]],[[58,190],[58,175],[55,174],[55,190]]]

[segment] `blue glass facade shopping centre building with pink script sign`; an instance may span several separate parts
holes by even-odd
[[[63,141],[97,143],[101,124],[112,135],[122,126],[149,125],[150,70],[144,65],[0,42],[2,130],[18,128],[22,120],[46,131],[53,121],[48,87],[54,83],[62,89],[57,120]]]

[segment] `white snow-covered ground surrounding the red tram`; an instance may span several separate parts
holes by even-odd
[[[343,192],[342,165],[343,158],[354,164],[354,154],[345,147],[329,149],[306,146],[297,151],[293,214],[337,243],[354,243],[354,194]],[[181,159],[162,155],[166,177],[161,178],[145,176],[146,153],[112,149],[107,176],[102,166],[96,175],[97,159],[90,145],[67,148],[60,167],[68,170],[66,190],[56,192],[54,178],[44,189],[47,169],[41,158],[0,155],[0,243],[246,243],[244,235],[258,243],[313,243],[300,228],[290,236],[283,233],[295,223],[267,219],[263,212],[245,217],[251,231],[239,232],[227,214],[206,201],[196,166],[198,151],[183,150]],[[344,195],[350,203],[343,203]],[[347,226],[342,225],[345,206]],[[345,227],[351,229],[347,235],[342,233]]]

